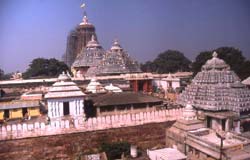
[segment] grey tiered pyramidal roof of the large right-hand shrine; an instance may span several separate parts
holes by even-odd
[[[244,111],[250,109],[250,90],[214,53],[177,99],[183,106],[188,102],[195,108],[210,111]]]

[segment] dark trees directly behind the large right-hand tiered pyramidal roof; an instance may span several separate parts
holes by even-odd
[[[243,80],[250,76],[250,62],[242,55],[239,49],[233,47],[220,47],[215,49],[218,57],[223,59],[233,71]],[[201,71],[202,65],[212,58],[213,51],[201,52],[192,64],[194,75]]]

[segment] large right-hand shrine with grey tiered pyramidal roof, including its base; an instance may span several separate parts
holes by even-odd
[[[246,115],[250,113],[250,90],[214,52],[179,95],[177,103],[190,103],[208,128],[240,132],[240,121],[249,118]]]

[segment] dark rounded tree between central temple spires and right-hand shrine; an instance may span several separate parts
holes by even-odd
[[[176,50],[167,50],[158,55],[153,62],[141,65],[144,72],[173,73],[177,71],[190,71],[190,60],[183,53]]]

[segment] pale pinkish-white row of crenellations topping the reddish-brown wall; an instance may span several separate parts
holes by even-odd
[[[87,120],[84,120],[83,117],[76,117],[72,120],[51,121],[48,125],[43,122],[12,124],[0,127],[0,140],[87,132],[174,121],[182,116],[182,112],[183,108],[180,108],[103,116]]]

